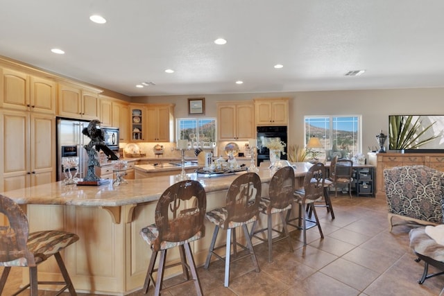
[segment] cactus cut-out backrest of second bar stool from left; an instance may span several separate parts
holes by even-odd
[[[162,193],[155,209],[159,236],[153,242],[153,250],[160,250],[160,245],[165,243],[203,237],[206,209],[207,195],[200,182],[187,180],[171,185]]]

